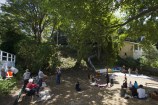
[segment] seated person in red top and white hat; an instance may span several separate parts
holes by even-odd
[[[33,79],[29,79],[25,90],[28,95],[35,95],[39,92],[39,86],[33,82]]]

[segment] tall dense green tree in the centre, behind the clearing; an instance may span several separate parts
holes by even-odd
[[[116,55],[116,29],[107,28],[118,23],[113,15],[113,1],[67,1],[63,3],[68,20],[69,44],[77,50],[78,61],[97,54],[100,61],[111,61]],[[61,14],[62,16],[62,14]],[[101,58],[106,60],[101,60]],[[109,63],[109,62],[108,62]]]

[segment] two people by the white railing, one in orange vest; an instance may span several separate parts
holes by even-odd
[[[11,66],[8,66],[7,71],[4,68],[1,69],[1,77],[2,79],[13,77],[13,71],[11,70]]]

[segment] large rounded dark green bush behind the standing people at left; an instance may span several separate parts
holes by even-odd
[[[50,43],[37,44],[34,40],[25,39],[18,44],[17,59],[18,64],[23,68],[29,68],[32,72],[40,68],[45,70],[52,69],[58,65],[56,47]]]

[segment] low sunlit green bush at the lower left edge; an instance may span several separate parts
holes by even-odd
[[[1,80],[0,81],[0,94],[7,95],[11,92],[11,90],[15,87],[16,80],[9,79],[9,80]]]

